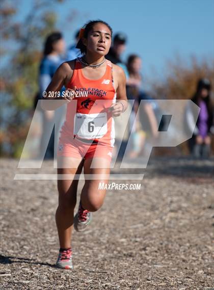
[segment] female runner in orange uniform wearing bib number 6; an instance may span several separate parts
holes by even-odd
[[[76,47],[84,57],[60,65],[46,89],[48,95],[48,92],[60,91],[64,85],[70,95],[58,100],[42,100],[41,104],[43,110],[55,110],[67,102],[57,150],[59,205],[56,224],[60,250],[56,266],[63,269],[73,269],[73,225],[77,231],[85,230],[92,219],[91,212],[103,204],[105,190],[98,189],[98,185],[100,181],[107,183],[109,180],[114,146],[113,116],[120,116],[127,109],[125,73],[105,59],[112,40],[110,25],[102,20],[89,21],[79,37]],[[88,95],[81,96],[79,92]],[[83,168],[85,184],[74,217],[78,185],[75,174],[80,174]],[[69,180],[61,180],[63,174],[69,174]],[[89,175],[101,177],[88,178]]]

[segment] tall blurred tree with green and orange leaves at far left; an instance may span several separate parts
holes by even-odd
[[[13,157],[20,156],[30,127],[44,38],[58,30],[57,14],[51,10],[50,1],[29,2],[30,10],[21,20],[19,8],[23,2],[16,0],[14,5],[13,1],[1,0],[0,6],[0,155]],[[51,1],[51,6],[62,2]]]

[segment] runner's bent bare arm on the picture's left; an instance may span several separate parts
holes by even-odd
[[[63,96],[58,97],[60,90],[65,85],[65,81],[73,73],[73,70],[72,71],[71,70],[72,69],[68,65],[68,63],[64,62],[58,67],[55,74],[53,74],[52,80],[49,83],[47,89],[45,90],[46,96],[45,97],[43,96],[41,100],[41,108],[43,110],[47,111],[56,110],[57,108],[65,104],[65,102],[70,102],[70,99],[72,99],[75,96],[75,91],[67,89],[64,92],[65,94],[64,97]],[[51,96],[52,92],[53,96]],[[72,92],[72,96],[68,92],[70,93]]]

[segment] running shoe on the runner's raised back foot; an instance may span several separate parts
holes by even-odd
[[[92,220],[92,213],[84,209],[79,203],[78,211],[73,220],[73,226],[76,231],[84,231]]]

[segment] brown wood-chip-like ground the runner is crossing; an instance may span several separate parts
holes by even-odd
[[[0,289],[214,288],[213,159],[152,157],[140,191],[109,190],[90,227],[73,232],[73,271],[55,268],[57,181],[13,180],[18,160],[1,165]]]

